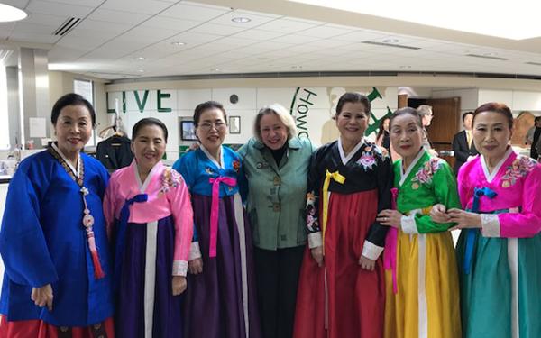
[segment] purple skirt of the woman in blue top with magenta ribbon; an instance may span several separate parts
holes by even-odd
[[[184,334],[197,338],[261,338],[253,274],[252,234],[239,194],[220,198],[216,257],[209,258],[211,196],[192,194],[203,272],[188,273]]]

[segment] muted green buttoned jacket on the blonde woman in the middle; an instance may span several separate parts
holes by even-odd
[[[271,150],[254,138],[237,151],[248,178],[247,212],[258,248],[277,250],[307,242],[307,175],[315,150],[307,138],[294,137],[278,164]]]

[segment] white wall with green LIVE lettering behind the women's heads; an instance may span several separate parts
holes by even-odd
[[[375,91],[374,87],[218,87],[111,91],[108,93],[107,108],[112,112],[116,100],[122,103],[125,99],[125,105],[121,104],[119,110],[122,112],[121,117],[129,136],[133,125],[144,117],[156,117],[166,123],[170,134],[166,149],[167,158],[176,160],[179,145],[191,143],[180,139],[179,121],[191,120],[195,107],[202,102],[218,101],[224,105],[229,117],[240,116],[241,132],[228,133],[225,143],[248,141],[253,135],[253,120],[259,109],[265,105],[279,103],[296,119],[298,135],[307,136],[316,145],[321,145],[337,137],[335,122],[331,117],[335,112],[338,98],[347,91],[374,96],[371,111],[376,119],[387,114],[389,109],[390,111],[397,109],[397,87],[378,87]],[[167,94],[170,97],[160,99],[159,92],[160,96]],[[233,95],[238,97],[235,104],[230,100]],[[159,112],[159,104],[161,108],[170,108],[170,112]]]

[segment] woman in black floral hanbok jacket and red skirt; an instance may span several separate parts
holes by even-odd
[[[346,93],[336,108],[341,133],[319,148],[308,173],[308,245],[298,287],[295,338],[377,338],[383,334],[380,259],[391,206],[387,151],[363,139],[370,102]],[[323,256],[322,256],[323,255]]]

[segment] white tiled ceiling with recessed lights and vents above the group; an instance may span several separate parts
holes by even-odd
[[[0,1],[31,14],[0,23],[0,47],[3,40],[49,44],[50,69],[96,78],[361,70],[541,76],[539,39],[417,31],[283,0],[237,0],[235,9],[220,0]],[[69,18],[81,20],[54,35]]]

